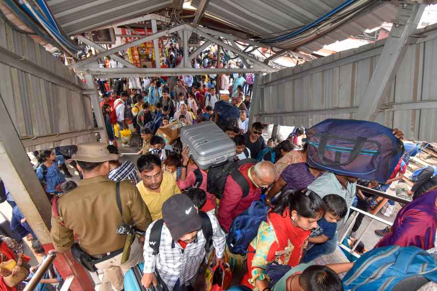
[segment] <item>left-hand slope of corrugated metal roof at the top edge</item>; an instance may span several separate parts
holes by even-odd
[[[55,19],[69,35],[170,7],[172,0],[47,0]]]

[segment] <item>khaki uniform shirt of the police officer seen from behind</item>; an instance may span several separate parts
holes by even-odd
[[[59,217],[52,214],[50,235],[56,251],[63,253],[71,248],[73,232],[79,237],[82,249],[90,255],[121,249],[126,237],[115,232],[121,224],[116,182],[107,176],[97,176],[80,180],[77,185],[59,197],[56,203]],[[135,185],[122,181],[120,197],[123,221],[146,230],[152,219]],[[65,226],[59,223],[61,221]]]

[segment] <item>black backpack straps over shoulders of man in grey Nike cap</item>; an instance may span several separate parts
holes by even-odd
[[[206,212],[199,210],[200,222],[202,224],[203,235],[206,239],[205,249],[209,250],[213,241],[213,225],[211,219]],[[161,244],[162,226],[164,225],[164,219],[156,220],[150,230],[149,246],[153,249],[153,255],[156,256],[159,253],[159,245]]]

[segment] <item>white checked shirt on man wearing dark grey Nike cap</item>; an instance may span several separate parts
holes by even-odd
[[[213,226],[213,245],[216,249],[218,258],[223,257],[226,237],[218,224],[217,218],[207,213]],[[176,281],[179,279],[180,285],[183,286],[199,270],[200,263],[205,257],[206,239],[200,230],[194,242],[187,244],[185,249],[178,242],[171,238],[169,229],[164,225],[161,232],[161,243],[159,245],[158,255],[153,255],[153,249],[149,246],[150,230],[152,222],[146,231],[146,241],[144,243],[144,273],[159,272],[162,280],[166,283],[169,290],[173,290]]]

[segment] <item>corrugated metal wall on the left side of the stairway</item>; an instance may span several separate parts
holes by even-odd
[[[30,36],[11,29],[1,19],[0,46],[38,65],[41,70],[56,74],[63,79],[62,82],[72,85],[68,88],[61,86],[52,80],[39,77],[37,73],[18,70],[8,60],[0,60],[1,98],[20,138],[44,137],[79,130],[84,133],[62,141],[27,146],[27,151],[95,139],[94,133],[89,130],[94,128],[91,100],[89,96],[82,94],[82,85],[73,71],[55,59],[44,47],[35,43]]]

